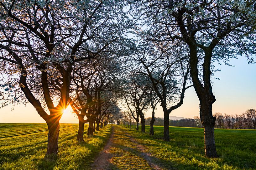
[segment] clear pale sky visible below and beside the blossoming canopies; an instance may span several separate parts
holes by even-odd
[[[212,91],[216,97],[212,113],[242,114],[247,109],[256,109],[256,64],[248,64],[245,57],[232,59],[231,65],[217,65],[221,71],[215,73],[220,80],[212,79]],[[76,114],[69,106],[60,123],[78,123]],[[150,109],[145,117],[151,116]],[[175,109],[170,116],[193,118],[199,116],[199,100],[193,87],[185,92],[184,104]],[[155,117],[163,117],[161,106]],[[6,106],[0,109],[0,123],[45,123],[31,104]]]

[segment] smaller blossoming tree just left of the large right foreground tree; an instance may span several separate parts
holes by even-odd
[[[142,39],[147,39],[141,35]],[[164,139],[170,141],[169,115],[183,104],[190,66],[185,48],[171,49],[170,42],[155,42],[142,45],[135,60],[142,64],[141,74],[149,77],[164,112]],[[143,72],[144,71],[144,72]],[[180,100],[179,102],[177,101]],[[169,102],[168,102],[169,100]],[[172,104],[169,108],[168,105]]]

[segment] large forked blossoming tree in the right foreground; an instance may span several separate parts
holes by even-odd
[[[141,2],[141,3],[140,3]],[[143,24],[156,32],[155,40],[184,42],[189,47],[190,75],[200,100],[206,157],[217,157],[214,140],[216,118],[212,116],[211,76],[213,61],[224,61],[244,53],[249,62],[255,54],[254,1],[136,1]],[[140,8],[138,7],[140,6]],[[155,33],[154,33],[155,34]]]

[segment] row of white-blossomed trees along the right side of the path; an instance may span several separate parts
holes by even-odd
[[[164,140],[170,140],[169,114],[183,104],[185,90],[193,86],[200,101],[205,155],[217,157],[212,63],[228,63],[230,58],[242,53],[253,62],[249,56],[255,54],[255,2],[153,0],[135,1],[131,7],[136,9],[134,17],[141,21],[140,26],[147,26],[135,30],[140,44],[133,56],[137,65],[134,70],[150,80],[161,102]],[[136,100],[141,98],[137,96]],[[140,112],[145,104],[141,102],[138,108],[136,100],[132,101],[137,107],[134,107],[137,114],[134,119],[140,116],[144,131],[144,115]],[[154,109],[152,114],[154,122]]]

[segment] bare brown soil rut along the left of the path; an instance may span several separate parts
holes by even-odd
[[[112,154],[109,151],[113,145],[113,139],[115,134],[114,128],[115,127],[112,126],[112,134],[110,135],[107,145],[103,148],[99,156],[95,159],[94,163],[92,164],[91,167],[93,170],[111,170],[108,168],[110,165],[110,159],[112,158]]]

